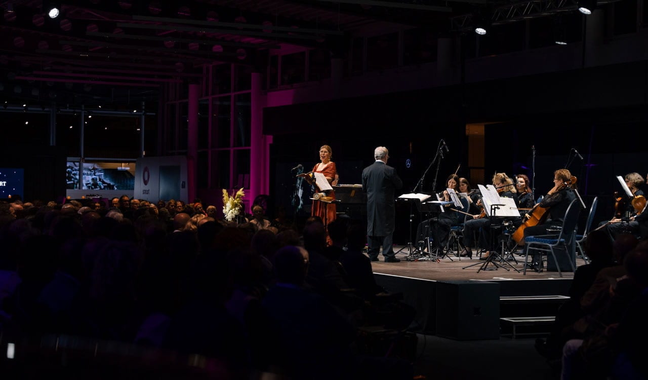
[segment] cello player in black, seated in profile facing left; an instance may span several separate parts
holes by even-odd
[[[548,208],[546,213],[549,213],[548,218],[542,224],[529,226],[524,229],[524,236],[546,235],[547,229],[553,226],[562,226],[565,213],[569,204],[576,198],[569,185],[572,179],[572,173],[567,169],[558,169],[553,172],[553,187],[547,193],[542,201],[538,204],[541,208]],[[520,242],[522,243],[522,242]],[[542,264],[542,256],[535,252],[533,259],[528,268],[536,272],[542,272],[544,265]]]

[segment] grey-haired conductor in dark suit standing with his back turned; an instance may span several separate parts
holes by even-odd
[[[389,150],[378,147],[374,150],[375,162],[362,171],[362,191],[367,193],[367,241],[369,259],[378,261],[382,255],[386,263],[398,263],[393,249],[393,232],[396,209],[395,191],[403,185],[396,169],[387,165]]]

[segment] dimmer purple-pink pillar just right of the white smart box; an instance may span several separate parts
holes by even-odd
[[[196,198],[196,187],[198,187],[198,98],[200,97],[200,85],[189,85],[189,104],[187,104],[188,132],[187,132],[187,203],[193,202]]]

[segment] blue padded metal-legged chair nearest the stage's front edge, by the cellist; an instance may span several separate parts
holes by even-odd
[[[576,224],[578,222],[578,217],[581,213],[581,205],[578,202],[578,199],[572,200],[567,211],[565,212],[565,217],[562,220],[562,228],[557,235],[535,235],[527,236],[524,238],[526,245],[524,246],[524,274],[526,275],[527,263],[529,261],[529,250],[537,250],[544,252],[545,254],[551,254],[553,257],[553,262],[558,263],[556,260],[556,255],[554,252],[555,248],[564,248],[565,252],[570,252],[570,247],[575,242],[576,239]],[[572,259],[569,260],[572,271],[575,272],[576,268],[572,262]],[[560,265],[556,265],[558,268],[558,275],[562,277],[562,272]]]

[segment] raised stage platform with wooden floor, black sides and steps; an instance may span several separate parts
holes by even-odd
[[[573,279],[571,270],[562,272],[562,277],[546,269],[541,273],[527,270],[524,275],[524,256],[520,255],[515,255],[517,263],[496,261],[501,267],[489,263],[485,270],[480,270],[484,261],[474,255],[472,259],[450,255],[439,261],[410,261],[416,256],[410,257],[406,247],[396,257],[400,263],[385,263],[381,254],[380,261],[371,265],[379,285],[401,292],[403,302],[417,310],[410,330],[457,340],[497,339],[511,333],[510,322],[502,318],[555,316]],[[577,267],[583,264],[576,259]]]

